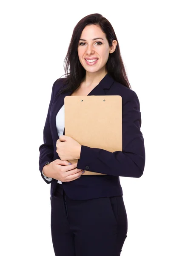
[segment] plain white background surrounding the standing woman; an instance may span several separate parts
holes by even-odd
[[[122,256],[182,255],[180,1],[2,1],[0,137],[2,256],[54,256],[50,184],[39,171],[51,89],[74,26],[100,13],[116,32],[142,115],[146,162],[120,177],[128,215]],[[86,256],[86,255],[85,255]]]

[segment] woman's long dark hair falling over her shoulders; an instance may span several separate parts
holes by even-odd
[[[82,34],[82,30],[85,28],[85,26],[90,24],[100,26],[100,29],[102,29],[102,32],[104,32],[106,35],[109,46],[112,45],[113,40],[117,41],[117,37],[111,23],[101,14],[94,13],[83,17],[73,30],[68,52],[64,59],[64,70],[65,75],[67,76],[63,79],[63,84],[66,86],[61,88],[59,93],[76,90],[80,86],[82,79],[85,77],[86,72],[78,58],[77,47]],[[122,61],[118,41],[115,51],[109,54],[108,61],[106,63],[106,70],[114,80],[131,89],[124,63]]]

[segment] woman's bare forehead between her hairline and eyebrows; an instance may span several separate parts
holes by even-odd
[[[102,30],[100,29],[100,26],[91,24],[91,25],[85,26],[80,38],[86,39],[86,40],[90,40],[90,39],[92,40],[93,38],[97,38],[97,37],[101,37],[104,39],[105,33],[102,32]]]

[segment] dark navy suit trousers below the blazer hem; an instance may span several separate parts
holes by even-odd
[[[127,231],[122,195],[72,200],[57,183],[51,197],[51,236],[56,256],[120,256]]]

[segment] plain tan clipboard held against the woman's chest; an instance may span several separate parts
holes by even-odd
[[[122,97],[65,96],[65,136],[81,145],[122,151]],[[76,163],[78,159],[70,160]],[[106,175],[85,170],[82,175]]]

